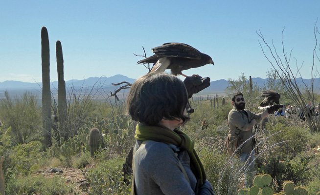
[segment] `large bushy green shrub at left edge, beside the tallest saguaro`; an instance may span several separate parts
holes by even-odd
[[[8,91],[0,99],[0,118],[11,127],[11,142],[15,145],[42,139],[42,117],[37,97],[25,92],[12,99]]]

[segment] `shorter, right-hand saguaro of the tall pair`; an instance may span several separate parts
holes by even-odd
[[[58,71],[58,120],[60,128],[64,130],[67,120],[67,95],[66,95],[66,81],[64,80],[63,72],[63,54],[60,40],[56,42],[56,57],[57,57],[57,71]]]

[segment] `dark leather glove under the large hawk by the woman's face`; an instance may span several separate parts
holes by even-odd
[[[191,98],[193,94],[199,93],[201,90],[210,86],[210,78],[202,78],[199,75],[192,75],[183,80],[184,86],[188,92],[188,98]]]

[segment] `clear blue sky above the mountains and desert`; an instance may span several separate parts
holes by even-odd
[[[42,82],[43,26],[49,34],[52,81],[57,80],[57,40],[65,80],[116,74],[138,78],[147,69],[137,65],[142,58],[134,54],[142,55],[144,47],[149,57],[151,48],[165,42],[189,44],[215,62],[186,75],[266,78],[271,65],[256,31],[281,49],[283,27],[286,50],[293,49],[297,64],[304,62],[303,78],[311,78],[319,9],[319,0],[1,0],[0,82]]]

